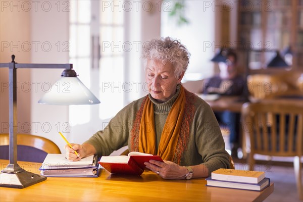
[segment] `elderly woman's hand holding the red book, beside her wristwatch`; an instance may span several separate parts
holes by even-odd
[[[188,170],[184,166],[179,166],[171,161],[156,161],[156,160],[149,160],[149,162],[144,163],[146,168],[149,170],[157,173],[164,179],[185,179],[186,173]]]

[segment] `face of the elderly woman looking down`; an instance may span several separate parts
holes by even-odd
[[[147,60],[145,79],[150,95],[158,102],[164,103],[176,93],[177,84],[181,82],[184,73],[176,79],[174,66],[163,64],[157,60]]]

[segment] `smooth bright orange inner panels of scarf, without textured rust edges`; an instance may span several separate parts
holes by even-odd
[[[158,155],[164,160],[173,161],[182,125],[185,101],[185,91],[184,88],[180,86],[180,93],[166,119],[157,153],[154,104],[150,99],[146,100],[139,130],[138,150],[140,152]]]

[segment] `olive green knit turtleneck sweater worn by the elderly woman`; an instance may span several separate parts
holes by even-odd
[[[180,87],[178,86],[176,94],[165,103],[157,102],[149,94],[149,99],[154,104],[157,146],[159,145],[168,113],[179,92]],[[135,100],[123,108],[104,130],[96,132],[85,143],[93,145],[100,156],[108,156],[114,150],[130,145],[129,137],[132,124],[143,98]],[[180,165],[205,164],[210,171],[210,175],[214,170],[230,167],[229,154],[225,150],[221,130],[212,109],[203,99],[197,96],[195,101],[195,114],[190,125],[188,145],[182,154]]]

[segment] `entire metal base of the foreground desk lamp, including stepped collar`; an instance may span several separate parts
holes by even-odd
[[[9,164],[0,174],[0,186],[24,188],[46,180],[45,176],[25,171],[18,164]]]

